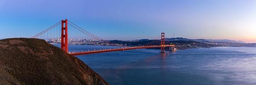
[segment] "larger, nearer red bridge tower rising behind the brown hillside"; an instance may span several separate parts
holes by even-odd
[[[64,27],[65,23],[65,27]],[[61,48],[68,52],[68,20],[62,20]]]

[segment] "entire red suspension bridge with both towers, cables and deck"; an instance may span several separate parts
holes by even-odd
[[[60,25],[61,24],[61,25]],[[68,26],[69,31],[68,31]],[[66,51],[71,55],[83,55],[83,54],[96,54],[96,53],[104,53],[104,52],[112,52],[112,51],[125,51],[125,50],[132,50],[132,49],[142,49],[142,48],[161,48],[160,53],[165,53],[165,47],[169,47],[170,51],[175,51],[175,45],[165,45],[165,33],[161,33],[161,45],[152,45],[154,42],[159,40],[160,36],[156,38],[156,40],[152,40],[145,45],[135,46],[135,47],[122,47],[122,48],[109,48],[109,49],[100,49],[100,50],[88,50],[88,51],[81,51],[81,52],[68,52],[68,44],[94,44],[94,43],[106,43],[107,45],[111,44],[110,42],[103,40],[88,31],[85,31],[83,28],[75,25],[71,21],[62,20],[58,23],[50,26],[49,28],[41,31],[40,33],[36,34],[32,38],[39,38],[47,40],[47,42],[57,42],[61,43],[62,50]]]

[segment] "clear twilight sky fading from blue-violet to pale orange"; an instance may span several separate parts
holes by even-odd
[[[106,40],[167,37],[256,42],[256,0],[0,0],[0,38],[62,19]]]

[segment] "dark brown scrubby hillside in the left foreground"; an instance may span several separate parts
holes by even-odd
[[[0,85],[108,85],[77,57],[44,40],[0,40],[0,57]]]

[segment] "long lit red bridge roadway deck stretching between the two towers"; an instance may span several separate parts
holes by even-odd
[[[174,45],[164,45],[164,47],[171,47]],[[76,53],[69,53],[73,56],[76,55],[84,55],[84,54],[97,54],[97,53],[105,53],[105,52],[112,52],[112,51],[126,51],[132,49],[143,49],[143,48],[161,48],[161,45],[149,45],[149,46],[136,46],[136,47],[128,47],[128,48],[115,48],[115,49],[103,49],[97,51],[83,51],[83,52],[76,52]]]

